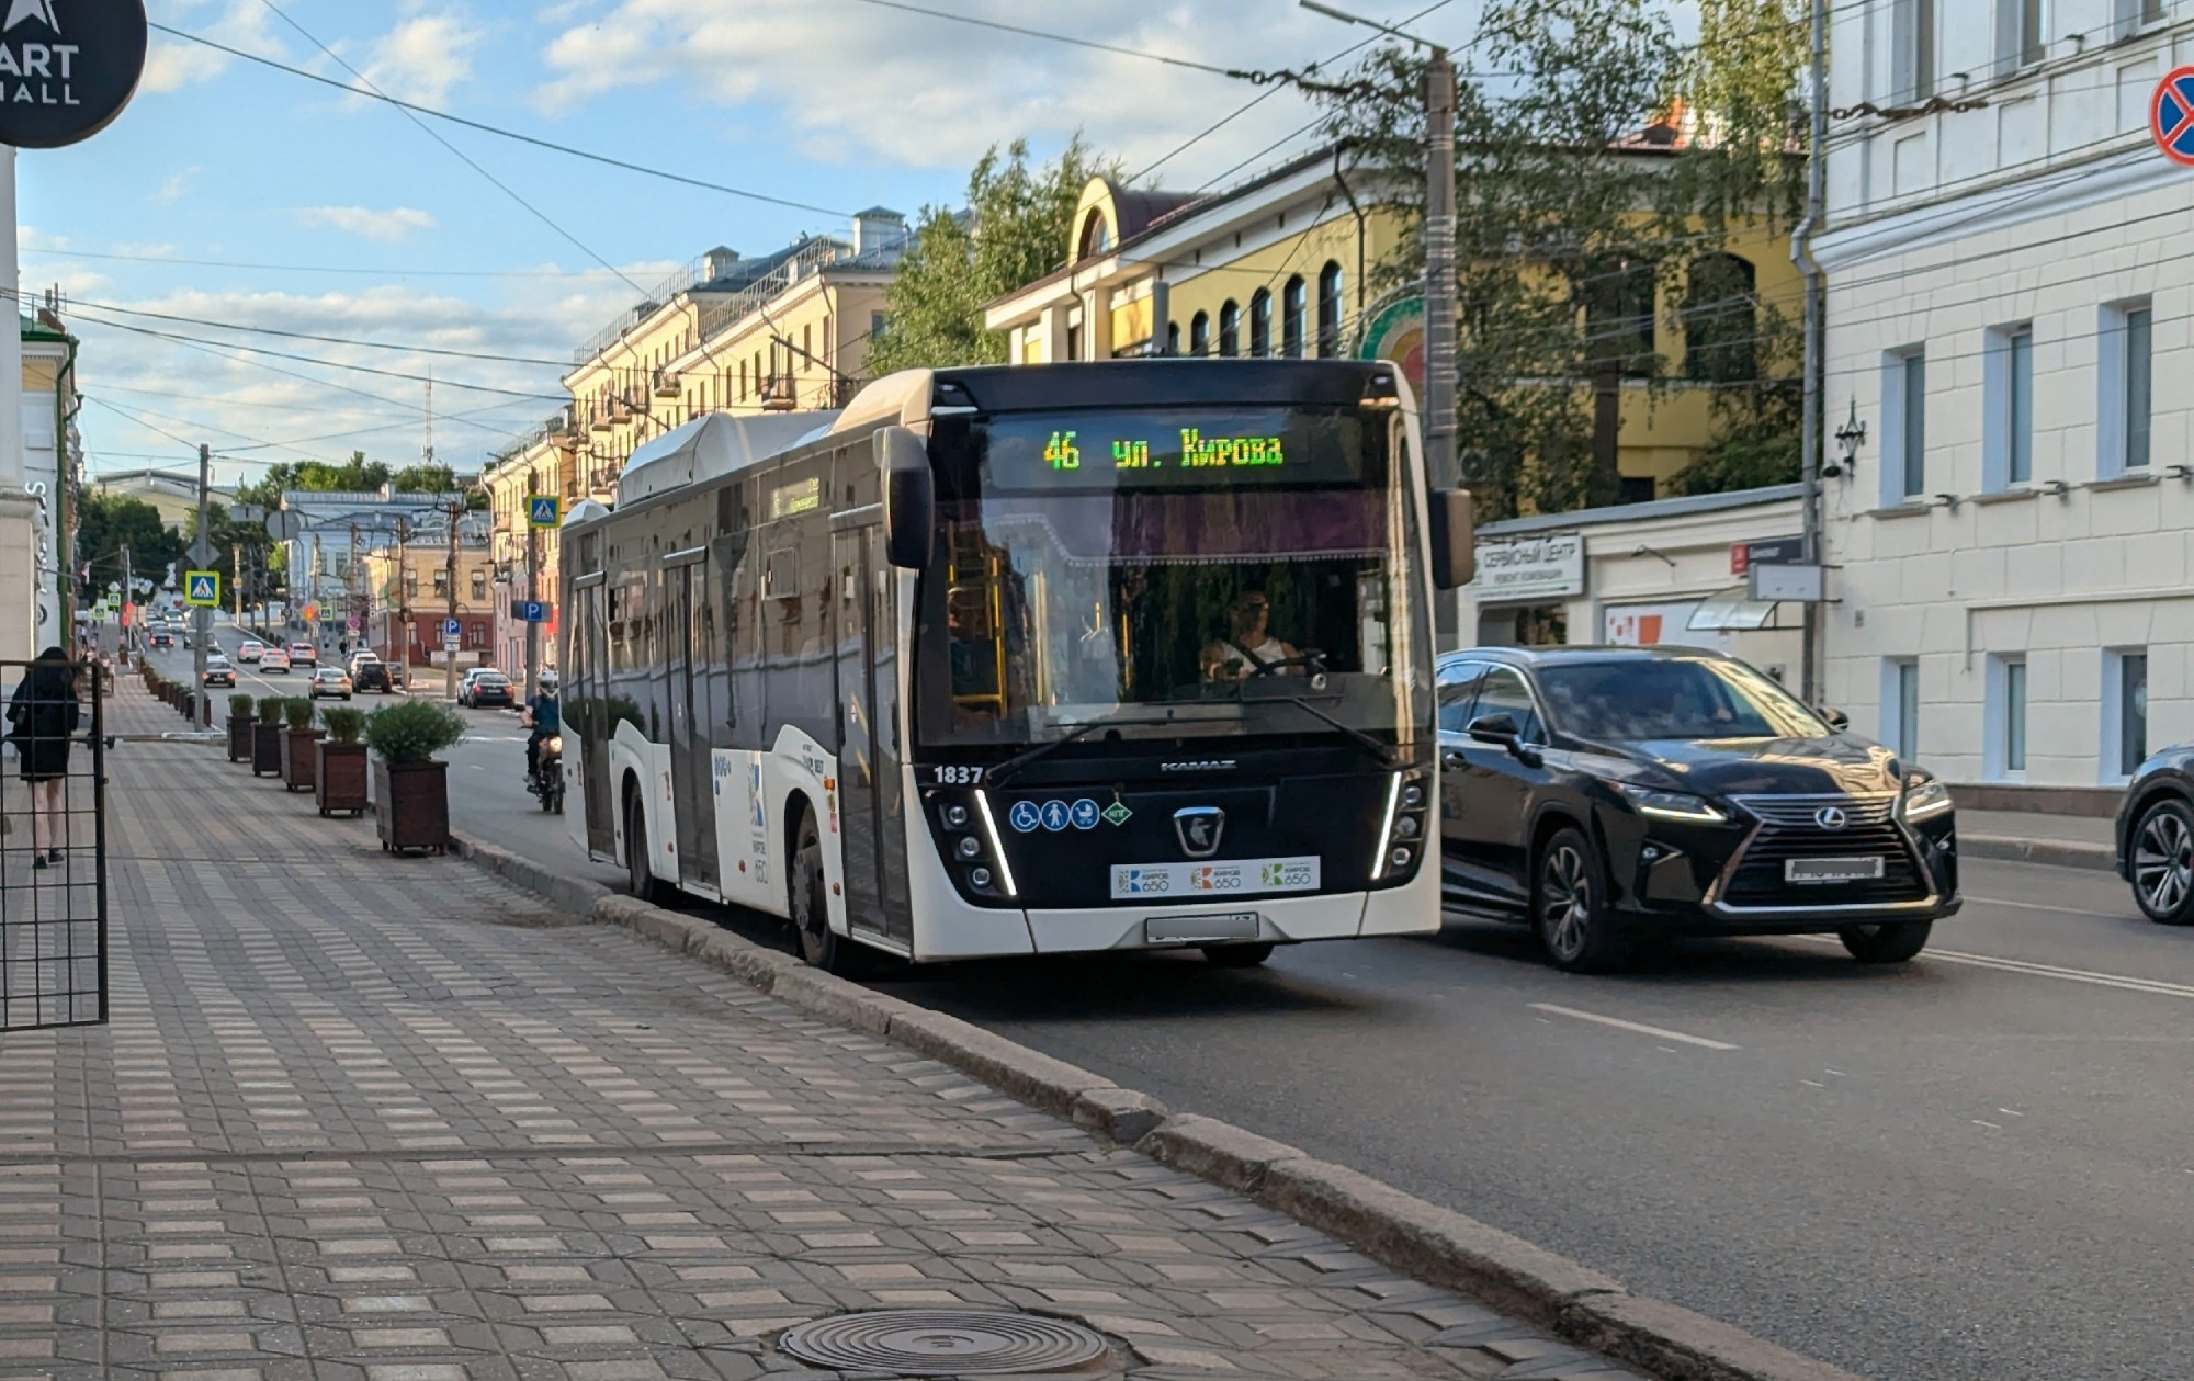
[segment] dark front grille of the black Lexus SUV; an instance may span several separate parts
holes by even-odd
[[[1722,890],[1733,908],[1898,905],[1926,901],[1931,886],[1920,870],[1904,831],[1898,829],[1893,796],[1740,796],[1760,829],[1744,844],[1742,861]],[[1823,829],[1819,811],[1843,811],[1843,829]],[[1784,879],[1788,859],[1878,857],[1882,875],[1843,883],[1792,883]]]

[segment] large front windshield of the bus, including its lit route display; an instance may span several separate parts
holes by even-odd
[[[921,743],[1411,741],[1430,631],[1400,436],[1391,408],[939,419]]]

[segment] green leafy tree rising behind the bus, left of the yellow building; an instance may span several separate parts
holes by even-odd
[[[1029,140],[992,147],[968,175],[968,208],[924,206],[900,272],[884,289],[884,331],[869,342],[869,375],[950,364],[1005,364],[1005,333],[983,329],[983,307],[1060,265],[1075,204],[1090,178],[1117,175],[1075,136],[1051,162],[1029,167]]]

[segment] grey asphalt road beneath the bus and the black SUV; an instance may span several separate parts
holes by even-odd
[[[614,881],[476,723],[459,829]],[[1450,918],[880,986],[1865,1377],[2194,1374],[2194,932],[2093,872],[1975,861],[1966,899],[1902,969],[1740,940],[1571,978]]]

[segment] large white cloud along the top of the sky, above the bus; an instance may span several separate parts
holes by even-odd
[[[1398,0],[1367,4],[1373,13],[1389,7],[1400,9]],[[1286,0],[1165,7],[963,0],[954,9],[1231,68],[1301,68],[1365,37]],[[1472,0],[1452,4],[1417,28],[1461,39],[1474,9]],[[542,112],[577,112],[632,88],[649,88],[649,99],[660,101],[658,88],[685,88],[720,107],[766,107],[777,134],[818,160],[965,169],[994,142],[1027,134],[1040,147],[1058,147],[1084,129],[1093,145],[1136,169],[1264,90],[1213,72],[869,4],[617,0],[586,20],[542,50],[546,79],[533,92]],[[744,110],[742,118],[755,114]],[[1196,186],[1244,158],[1277,160],[1292,147],[1259,151],[1310,118],[1301,96],[1275,94],[1169,164],[1165,182]]]

